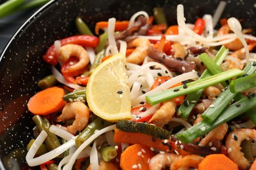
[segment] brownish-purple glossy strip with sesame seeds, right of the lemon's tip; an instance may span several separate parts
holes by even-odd
[[[184,60],[179,60],[177,58],[168,57],[159,50],[153,48],[153,46],[148,46],[148,56],[152,59],[156,59],[161,63],[164,63],[169,67],[169,69],[175,69],[179,73],[187,73],[196,69],[196,64]]]

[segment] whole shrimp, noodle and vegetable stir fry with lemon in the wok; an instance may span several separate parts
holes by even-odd
[[[52,75],[28,101],[30,167],[256,169],[252,29],[209,14],[186,23],[182,5],[177,25],[153,13],[95,30],[77,16],[79,34],[53,40]]]

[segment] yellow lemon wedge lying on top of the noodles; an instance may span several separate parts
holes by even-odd
[[[131,99],[127,85],[125,56],[116,54],[96,67],[86,88],[89,108],[110,122],[131,119]]]

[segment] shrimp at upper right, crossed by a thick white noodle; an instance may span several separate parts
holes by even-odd
[[[221,36],[221,35],[226,35],[230,32],[230,27],[228,24],[224,24],[218,31],[217,35]],[[242,42],[240,41],[240,39],[235,39],[232,42],[226,43],[224,44],[224,46],[232,51],[234,50],[238,50],[240,48],[242,48],[244,45],[242,44]]]

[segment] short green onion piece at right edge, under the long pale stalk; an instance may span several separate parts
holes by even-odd
[[[256,73],[236,78],[230,82],[229,86],[232,93],[238,93],[253,88],[256,86]]]

